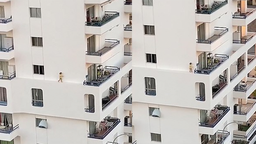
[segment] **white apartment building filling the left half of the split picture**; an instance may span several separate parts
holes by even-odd
[[[0,0],[0,144],[132,132],[131,12],[129,0]]]

